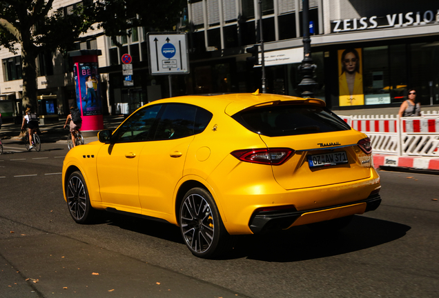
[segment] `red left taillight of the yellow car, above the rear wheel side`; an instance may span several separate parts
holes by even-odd
[[[263,148],[235,150],[231,152],[231,155],[240,161],[279,166],[292,157],[294,152],[290,148]]]

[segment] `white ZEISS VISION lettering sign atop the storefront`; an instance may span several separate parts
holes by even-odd
[[[331,32],[337,33],[381,28],[404,28],[434,23],[439,23],[439,10],[387,14],[386,16],[380,17],[372,16],[353,19],[339,19],[331,21]]]

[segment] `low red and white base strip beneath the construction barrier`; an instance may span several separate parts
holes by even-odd
[[[396,155],[373,155],[373,166],[410,168],[414,170],[438,170],[439,158],[434,157],[400,157]]]

